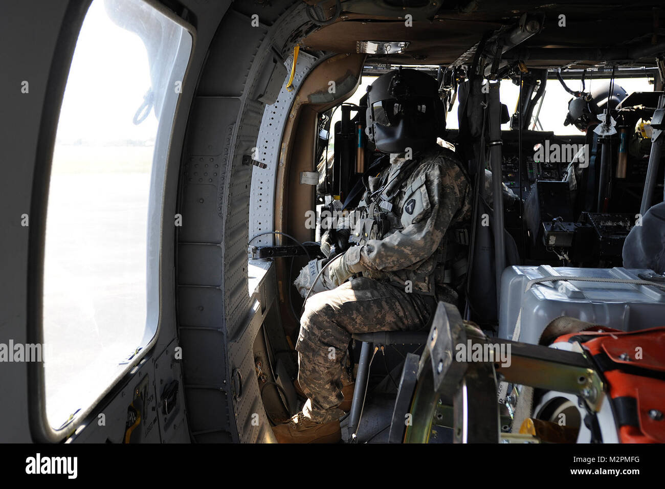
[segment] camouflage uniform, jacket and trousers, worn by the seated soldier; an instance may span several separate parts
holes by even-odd
[[[342,414],[351,333],[423,329],[438,300],[457,300],[445,265],[466,253],[452,230],[471,218],[471,186],[455,154],[436,146],[397,158],[368,187],[351,230],[358,245],[336,260],[332,282],[362,276],[313,295],[301,318],[298,381],[316,422]]]

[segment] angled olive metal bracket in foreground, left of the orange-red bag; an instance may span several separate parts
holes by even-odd
[[[458,361],[460,348],[484,355],[478,361],[468,357]],[[450,406],[455,442],[517,440],[519,436],[500,434],[498,375],[507,383],[576,395],[593,412],[600,410],[604,399],[602,379],[587,355],[503,339],[490,343],[480,329],[462,321],[456,307],[440,302],[420,359],[412,424],[404,441],[427,443],[432,426],[446,424],[443,418]]]

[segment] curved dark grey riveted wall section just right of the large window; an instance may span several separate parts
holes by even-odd
[[[254,378],[252,346],[266,309],[247,288],[255,167],[243,164],[243,156],[257,145],[265,116],[257,98],[272,76],[266,67],[309,29],[302,3],[273,1],[277,4],[288,11],[273,27],[263,22],[251,27],[249,17],[227,14],[235,23],[223,22],[217,30],[190,116],[180,179],[177,297],[184,391],[198,442],[273,440]],[[243,46],[237,46],[238,39]],[[314,60],[305,54],[305,61]],[[241,395],[237,384],[246,386]]]

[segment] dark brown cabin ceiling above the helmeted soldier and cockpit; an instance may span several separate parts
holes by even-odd
[[[484,33],[517,25],[520,17],[529,13],[544,18],[543,29],[507,51],[503,59],[521,59],[534,68],[615,63],[653,66],[655,54],[665,50],[661,5],[660,1],[646,1],[636,7],[600,0],[346,0],[340,1],[336,14],[336,1],[325,0],[319,3],[319,15],[334,21],[309,33],[303,47],[356,53],[357,41],[406,42],[403,53],[370,54],[368,61],[446,66],[472,48]],[[411,27],[406,25],[408,13],[413,13]]]

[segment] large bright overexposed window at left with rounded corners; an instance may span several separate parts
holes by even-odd
[[[156,336],[166,155],[191,51],[189,31],[142,0],[94,0],[82,23],[47,208],[43,349],[54,428],[100,399]]]

